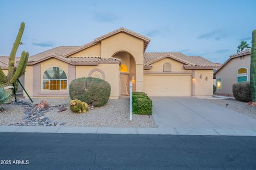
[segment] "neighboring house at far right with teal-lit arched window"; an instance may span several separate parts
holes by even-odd
[[[222,64],[220,69],[214,72],[217,94],[233,95],[234,83],[250,81],[251,49],[231,55]]]

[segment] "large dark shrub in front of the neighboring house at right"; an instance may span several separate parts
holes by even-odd
[[[239,82],[233,84],[233,95],[238,101],[251,101],[250,82]]]

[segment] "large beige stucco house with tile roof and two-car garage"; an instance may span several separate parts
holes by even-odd
[[[110,98],[144,91],[149,96],[212,96],[218,65],[182,53],[145,53],[150,39],[125,28],[83,46],[60,46],[29,57],[25,88],[31,97],[68,97],[69,83],[96,77],[111,85]],[[26,96],[26,94],[24,94]]]

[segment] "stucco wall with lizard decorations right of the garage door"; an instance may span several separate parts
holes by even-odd
[[[193,96],[213,95],[213,70],[193,70]],[[207,78],[207,80],[206,80]]]

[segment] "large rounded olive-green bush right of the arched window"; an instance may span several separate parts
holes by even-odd
[[[93,106],[104,106],[110,96],[110,84],[98,78],[78,78],[71,81],[69,95],[72,100],[78,99]]]

